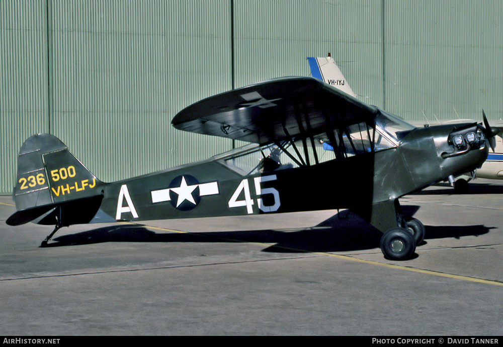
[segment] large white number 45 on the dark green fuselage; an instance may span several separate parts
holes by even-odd
[[[257,198],[257,204],[259,205],[259,209],[262,212],[275,212],[278,211],[281,202],[280,202],[280,194],[275,188],[262,188],[260,186],[261,182],[267,182],[267,181],[275,181],[276,180],[276,175],[269,175],[269,176],[262,176],[262,177],[255,177],[254,178],[254,184],[255,184],[255,193],[257,195],[265,195],[265,194],[273,194],[274,196],[274,204],[271,206],[266,206],[264,205],[262,198]],[[241,194],[241,191],[244,191],[244,200],[238,200],[238,196]],[[246,211],[248,214],[253,213],[253,206],[254,205],[254,200],[251,199],[250,195],[250,187],[247,179],[243,179],[241,183],[236,188],[236,191],[234,194],[232,194],[232,197],[229,200],[229,207],[242,207],[246,206]]]

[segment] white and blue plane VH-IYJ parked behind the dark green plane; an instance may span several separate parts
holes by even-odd
[[[326,57],[308,57],[311,76],[317,78],[339,90],[356,97],[356,94],[351,89],[348,81],[344,77],[337,63],[328,53]],[[482,111],[483,112],[483,111]],[[484,118],[484,116],[483,116]],[[431,123],[425,115],[426,121],[411,121],[410,124],[417,127],[427,127]],[[447,121],[439,121],[436,123],[442,124],[460,124],[460,123],[475,123],[473,119],[452,119]],[[487,126],[487,124],[485,124]],[[503,123],[496,123],[493,126],[499,128],[498,136],[494,136],[491,140],[491,148],[493,153],[489,153],[486,161],[480,168],[473,172],[464,173],[457,180],[455,177],[449,177],[449,183],[454,187],[456,192],[466,192],[468,190],[468,181],[474,178],[489,178],[503,179]]]

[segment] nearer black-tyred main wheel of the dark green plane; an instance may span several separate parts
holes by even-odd
[[[381,238],[381,251],[387,259],[409,259],[415,252],[414,237],[405,228],[392,228]]]

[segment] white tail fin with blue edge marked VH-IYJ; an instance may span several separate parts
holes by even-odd
[[[310,57],[307,58],[307,61],[309,62],[312,77],[317,78],[330,86],[336,87],[346,94],[356,97],[356,94],[349,86],[348,81],[346,81],[346,78],[341,72],[341,69],[337,66],[332,57],[330,57],[330,53],[328,53],[326,58]]]

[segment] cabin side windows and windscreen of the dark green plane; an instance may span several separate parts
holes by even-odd
[[[413,128],[381,111],[375,124],[361,122],[264,146],[249,144],[213,159],[243,176],[265,174],[394,148]]]

